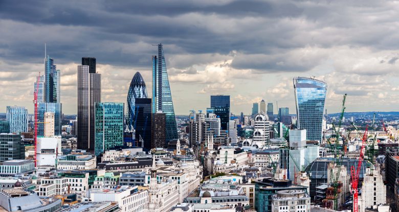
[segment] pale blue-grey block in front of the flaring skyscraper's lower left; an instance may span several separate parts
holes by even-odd
[[[306,165],[306,129],[290,129],[290,154],[290,179],[294,179],[295,172]]]

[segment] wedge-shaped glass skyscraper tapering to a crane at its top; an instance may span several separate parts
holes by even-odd
[[[152,113],[162,111],[166,115],[166,142],[178,139],[174,117],[172,93],[162,44],[158,44],[158,56],[152,56]]]

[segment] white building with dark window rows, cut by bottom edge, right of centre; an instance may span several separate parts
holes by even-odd
[[[310,212],[311,197],[303,190],[282,190],[272,195],[272,212]]]

